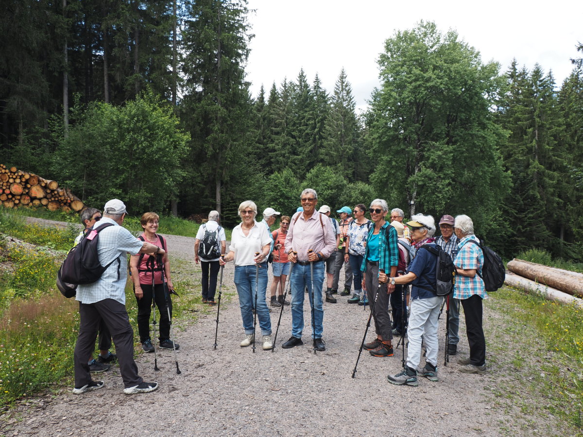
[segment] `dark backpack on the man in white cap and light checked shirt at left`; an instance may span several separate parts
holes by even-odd
[[[113,225],[113,223],[104,223],[90,230],[79,244],[67,253],[57,273],[57,288],[65,297],[73,297],[76,294],[76,286],[92,284],[99,280],[107,267],[115,261],[114,259],[107,266],[102,266],[97,253],[99,232]]]

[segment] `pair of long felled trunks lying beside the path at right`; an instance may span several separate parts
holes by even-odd
[[[583,275],[543,266],[522,259],[508,262],[510,274],[505,283],[528,291],[535,291],[545,298],[583,307]]]

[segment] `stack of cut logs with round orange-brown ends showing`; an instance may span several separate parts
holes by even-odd
[[[0,164],[0,202],[5,208],[44,206],[51,211],[80,211],[84,207],[71,190],[59,188],[57,181],[4,164]]]

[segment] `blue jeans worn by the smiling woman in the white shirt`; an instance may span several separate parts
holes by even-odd
[[[271,318],[269,317],[267,302],[265,302],[267,263],[265,262],[259,265],[257,277],[255,276],[256,271],[257,267],[255,265],[235,266],[235,286],[239,295],[243,329],[245,330],[245,335],[255,333],[252,308],[255,306],[255,295],[257,294],[257,318],[259,319],[259,327],[261,327],[261,335],[271,336]],[[255,288],[256,280],[257,293]]]

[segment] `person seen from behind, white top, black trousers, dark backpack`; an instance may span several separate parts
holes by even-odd
[[[196,232],[194,262],[201,263],[202,303],[215,305],[219,258],[227,249],[227,237],[219,225],[219,212],[211,211],[208,221]]]

